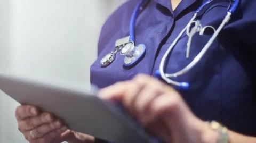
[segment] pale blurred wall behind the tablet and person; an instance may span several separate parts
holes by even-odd
[[[125,0],[0,0],[0,72],[90,87],[102,24]],[[27,142],[0,91],[0,142]]]

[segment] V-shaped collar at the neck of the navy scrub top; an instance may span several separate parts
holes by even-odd
[[[202,3],[202,0],[189,0],[189,1],[182,0],[180,4],[177,6],[177,8],[173,11],[171,0],[154,0],[154,1],[166,7],[167,9],[169,9],[169,11],[174,15],[174,18],[176,18],[181,12],[185,11],[189,6],[193,5],[195,2],[201,1]]]

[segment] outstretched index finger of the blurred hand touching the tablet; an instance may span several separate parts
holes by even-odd
[[[123,98],[123,93],[126,91],[126,85],[129,81],[118,82],[114,85],[108,86],[99,90],[98,96],[105,100],[111,100],[114,102],[119,102]]]

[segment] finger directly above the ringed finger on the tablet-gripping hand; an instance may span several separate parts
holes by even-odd
[[[52,123],[54,120],[55,117],[52,114],[44,112],[36,117],[18,121],[18,128],[21,132],[28,130],[30,131],[42,124]]]

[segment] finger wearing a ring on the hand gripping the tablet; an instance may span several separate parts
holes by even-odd
[[[61,125],[62,125],[62,122],[60,120],[57,120],[50,124],[43,124],[40,127],[35,128],[31,131],[33,132],[33,134],[36,138],[41,138],[45,134],[47,134],[55,129],[59,129],[61,127]]]

